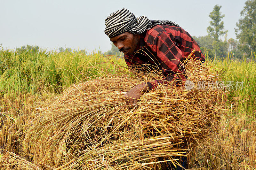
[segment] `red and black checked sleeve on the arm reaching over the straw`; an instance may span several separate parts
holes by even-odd
[[[150,37],[149,37],[150,38]],[[166,32],[158,33],[154,36],[154,41],[149,47],[156,53],[157,59],[162,67],[164,79],[155,80],[148,83],[150,89],[156,88],[158,83],[166,84],[177,78],[185,80],[184,67],[182,65],[183,57],[181,50],[175,45],[172,34]]]

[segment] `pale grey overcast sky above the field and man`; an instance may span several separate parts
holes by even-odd
[[[87,52],[110,50],[104,34],[106,17],[127,8],[136,17],[170,20],[192,36],[207,35],[209,13],[221,5],[228,38],[236,38],[234,28],[246,0],[0,0],[0,44],[14,49],[21,45],[41,48],[87,49]]]

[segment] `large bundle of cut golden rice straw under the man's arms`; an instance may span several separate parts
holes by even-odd
[[[177,164],[179,156],[214,135],[224,108],[222,90],[197,89],[198,81],[218,81],[210,67],[189,60],[186,68],[193,89],[185,89],[185,82],[180,87],[159,85],[133,109],[120,98],[156,75],[104,75],[72,85],[27,120],[22,146],[26,159],[40,168],[66,164],[70,169]]]

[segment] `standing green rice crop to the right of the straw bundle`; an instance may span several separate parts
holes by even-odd
[[[232,57],[229,53],[223,59],[209,60],[209,65],[218,68],[218,72],[222,75],[222,81],[227,85],[233,86],[228,88],[228,95],[233,102],[230,105],[231,114],[237,112],[239,114],[249,114],[255,116],[255,94],[256,94],[256,54],[252,53],[250,58],[243,60]],[[237,83],[237,84],[236,84]],[[237,86],[236,86],[237,85]],[[231,107],[232,106],[232,107]]]

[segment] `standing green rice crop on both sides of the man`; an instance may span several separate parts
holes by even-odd
[[[252,53],[247,61],[238,60],[229,54],[224,59],[208,63],[223,75],[224,83],[234,83],[235,90],[229,92],[234,99],[232,112],[249,114],[255,116],[255,94],[256,94],[256,63]],[[87,77],[100,77],[102,74],[116,73],[117,69],[113,64],[126,66],[124,59],[115,56],[104,56],[97,54],[84,54],[83,52],[57,52],[46,50],[0,50],[0,95],[8,91],[15,94],[21,92],[40,93],[47,91],[59,94]],[[243,82],[243,89],[236,90],[236,82]],[[241,84],[238,84],[241,85]],[[240,98],[239,98],[240,97]],[[236,103],[239,104],[236,104]]]

